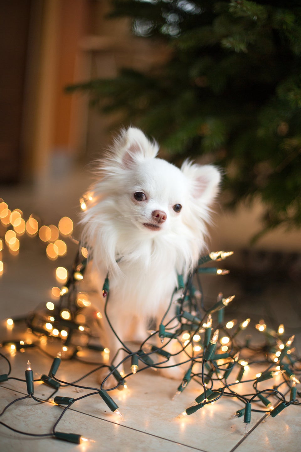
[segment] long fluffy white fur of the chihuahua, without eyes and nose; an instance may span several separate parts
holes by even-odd
[[[158,149],[141,130],[123,130],[101,161],[93,202],[82,220],[82,243],[93,250],[91,275],[102,293],[109,274],[107,312],[122,340],[146,338],[143,323],[149,316],[162,317],[177,273],[185,277],[197,264],[220,183],[214,166],[186,160],[180,170],[156,158]],[[146,199],[137,201],[137,192]],[[174,211],[176,204],[181,212]],[[157,223],[154,211],[166,213],[166,220]],[[113,357],[120,343],[108,325],[106,329]]]

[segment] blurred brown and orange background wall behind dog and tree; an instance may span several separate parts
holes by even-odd
[[[166,47],[134,38],[127,19],[105,18],[108,9],[107,0],[0,2],[0,182],[6,191],[12,184],[49,190],[110,142],[108,129],[118,116],[91,110],[88,96],[65,94],[66,85],[166,60]],[[248,248],[262,210],[259,202],[236,213],[221,209],[213,248]],[[299,254],[300,232],[278,228],[255,249]]]

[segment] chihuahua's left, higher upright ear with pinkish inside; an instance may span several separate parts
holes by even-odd
[[[159,150],[157,143],[149,141],[144,133],[136,127],[123,130],[116,145],[121,163],[126,168],[131,167],[136,161],[156,157]]]

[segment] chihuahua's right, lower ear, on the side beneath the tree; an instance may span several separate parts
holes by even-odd
[[[221,173],[213,165],[196,165],[185,160],[181,171],[190,180],[193,198],[210,204],[218,194]]]

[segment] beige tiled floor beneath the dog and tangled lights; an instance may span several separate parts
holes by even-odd
[[[69,191],[67,190],[65,197],[68,205],[65,202],[60,203],[61,187],[56,193],[52,192],[51,196],[44,193],[44,198],[41,194],[40,197],[33,196],[34,193],[29,189],[28,191],[5,189],[0,196],[12,208],[19,207],[27,210],[28,213],[37,209],[36,213],[45,218],[46,224],[56,224],[63,215],[75,218],[77,198],[84,187],[83,182],[82,187],[80,184],[67,185],[71,187]],[[65,258],[60,259],[59,264],[69,267],[74,252],[75,248],[71,246],[69,253]],[[0,279],[0,342],[21,340],[25,337],[26,328],[20,325],[9,330],[5,319],[25,315],[31,310],[45,306],[46,301],[51,300],[50,289],[56,285],[54,269],[58,265],[58,261],[51,262],[46,259],[45,246],[39,240],[26,237],[22,239],[18,256],[7,253],[3,260],[5,260],[5,271]],[[281,323],[284,319],[287,334],[300,333],[301,330],[299,289],[298,282],[273,281],[266,284],[262,292],[247,293],[240,281],[235,278],[224,277],[218,280],[218,283],[213,277],[204,278],[204,292],[209,299],[215,296],[216,291],[222,291],[227,295],[236,294],[236,304],[233,304],[231,309],[229,307],[229,318],[238,317],[244,320],[246,317],[251,317],[253,324],[262,316],[276,323]],[[250,327],[248,332],[251,330],[254,330],[254,326]],[[255,337],[254,340],[260,341],[260,338]],[[24,379],[28,359],[36,379],[41,374],[48,373],[52,362],[51,358],[37,348],[25,349],[24,353],[14,353],[5,346],[0,348],[0,352],[9,357],[12,366],[10,376],[20,379]],[[94,358],[98,359],[98,355],[93,355]],[[251,367],[248,377],[254,377],[259,369],[258,366]],[[63,381],[74,381],[94,367],[74,360],[65,360],[61,363],[56,377]],[[0,359],[0,374],[6,372],[8,372],[7,363],[4,359]],[[0,450],[2,452],[12,450],[48,452],[56,447],[61,451],[108,452],[115,450],[123,452],[135,450],[253,452],[256,449],[265,452],[300,451],[300,406],[292,405],[275,419],[269,419],[267,422],[262,422],[263,413],[252,413],[249,433],[244,437],[243,418],[231,418],[236,410],[243,408],[243,404],[236,399],[223,397],[191,416],[176,419],[176,416],[202,392],[197,383],[191,381],[185,391],[174,401],[171,401],[171,397],[176,392],[179,381],[168,380],[151,370],[137,373],[130,377],[127,383],[129,389],[110,392],[111,397],[119,405],[124,420],[116,419],[96,394],[75,402],[60,421],[57,430],[80,433],[87,438],[92,438],[94,443],[76,445],[53,438],[32,438],[0,425]],[[270,387],[269,384],[270,382],[267,384],[264,382],[262,387]],[[98,387],[95,375],[85,378],[83,385]],[[245,383],[241,389],[242,393],[252,391],[248,383]],[[76,398],[88,392],[91,391],[69,386],[60,388],[58,394]],[[26,385],[23,381],[11,379],[2,382],[0,410],[11,401],[26,394]],[[35,383],[35,396],[46,398],[50,394],[49,386]],[[25,432],[49,433],[61,412],[60,406],[48,402],[38,404],[29,398],[10,406],[0,420]]]

